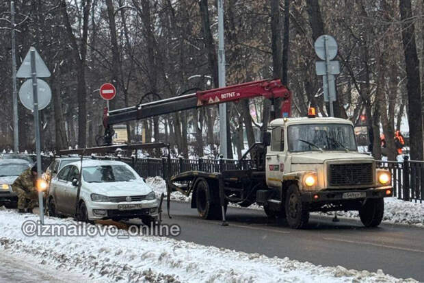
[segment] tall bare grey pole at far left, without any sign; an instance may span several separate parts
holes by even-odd
[[[16,40],[15,40],[15,4],[10,2],[10,14],[12,16],[12,86],[13,86],[13,145],[14,152],[19,152],[18,130],[18,93],[16,92]]]

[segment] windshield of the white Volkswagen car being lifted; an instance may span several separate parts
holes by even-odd
[[[129,182],[135,175],[124,165],[98,165],[84,167],[83,179],[88,183]]]

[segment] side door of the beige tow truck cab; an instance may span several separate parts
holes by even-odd
[[[281,188],[284,171],[284,127],[274,127],[271,132],[271,145],[267,151],[267,185]]]

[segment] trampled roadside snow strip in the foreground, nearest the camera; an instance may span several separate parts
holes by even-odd
[[[37,216],[0,211],[1,252],[53,266],[53,272],[72,271],[102,282],[416,282],[381,270],[321,267],[156,236],[27,237],[21,232],[25,220],[36,221]]]

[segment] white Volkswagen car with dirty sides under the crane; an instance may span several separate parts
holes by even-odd
[[[81,162],[62,168],[51,180],[49,214],[75,215]],[[83,160],[81,193],[78,201],[79,221],[98,219],[157,220],[159,201],[155,192],[128,164],[110,160]]]

